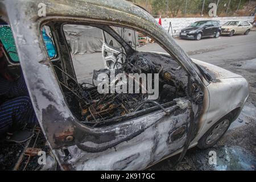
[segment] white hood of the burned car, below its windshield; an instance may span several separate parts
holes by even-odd
[[[224,68],[217,67],[216,65],[205,63],[204,61],[192,59],[192,61],[199,65],[199,67],[207,73],[212,80],[221,80],[225,78],[236,78],[242,77],[241,75],[237,75],[236,73],[232,73]]]

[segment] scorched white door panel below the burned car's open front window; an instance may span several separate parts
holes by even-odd
[[[61,27],[63,27],[64,24],[65,23],[62,23]],[[79,24],[101,28],[102,30],[110,34],[110,36],[113,36],[113,38],[117,38],[118,36],[117,32],[113,34],[114,30],[110,32],[110,27],[106,27],[103,24],[88,24],[88,22]],[[62,34],[64,35],[64,32]],[[58,37],[61,36],[62,35],[58,35]],[[121,37],[119,36],[119,38]],[[129,45],[125,42],[125,40],[115,40],[117,40],[117,42],[121,44],[123,47]],[[126,51],[130,52],[127,49]],[[93,142],[93,140],[89,140],[90,142],[86,141],[85,138],[89,136],[86,135],[85,131],[82,137],[79,136],[82,134],[82,131],[80,131],[80,133],[73,134],[73,136],[76,138],[76,144],[67,147],[67,155],[73,156],[72,160],[67,160],[66,157],[63,157],[63,149],[55,149],[55,154],[57,154],[58,159],[60,160],[62,165],[64,163],[69,163],[69,166],[66,166],[69,169],[144,169],[147,166],[158,162],[158,160],[173,154],[174,152],[182,148],[185,145],[185,143],[188,143],[188,140],[190,140],[190,137],[187,136],[186,133],[181,133],[185,131],[185,126],[189,128],[187,128],[187,130],[192,130],[192,125],[194,122],[192,104],[191,101],[189,100],[181,100],[181,102],[187,102],[187,107],[181,109],[179,104],[172,102],[170,103],[170,106],[166,107],[166,110],[147,109],[147,111],[135,111],[134,113],[126,115],[126,120],[124,120],[123,117],[117,118],[117,121],[122,121],[120,123],[113,122],[112,126],[96,128],[96,130],[98,130],[99,133],[102,130],[106,138],[113,135],[113,133],[116,133],[116,130],[118,129],[118,139],[115,138],[108,142],[98,140],[97,143],[94,143],[94,146],[90,146],[89,143]],[[150,110],[152,111],[149,112]],[[170,114],[167,114],[167,112]],[[176,113],[179,112],[181,112],[181,114],[177,115]],[[181,121],[180,118],[183,118],[183,121]],[[161,131],[160,134],[159,130]],[[127,131],[133,132],[127,134]],[[150,133],[150,135],[148,135],[147,133]],[[93,135],[94,134],[91,132],[90,137],[93,137]],[[156,147],[154,150],[152,150],[147,147],[142,148],[138,146],[138,142],[141,142],[143,144],[143,142],[148,141],[153,142],[151,144],[148,143],[149,146],[154,146],[154,140],[152,140],[152,137],[154,137],[155,135],[159,135],[159,137],[156,137],[154,139],[158,141],[158,145],[162,147],[163,145],[165,146],[162,148],[162,150],[159,151],[159,147]],[[195,137],[195,135],[196,133],[194,132],[193,136]],[[95,137],[96,136],[97,135],[95,135]],[[96,142],[96,140],[94,140],[94,142]],[[188,144],[186,145],[188,147]],[[134,148],[134,146],[137,146],[136,148],[141,148],[141,150],[138,151],[132,149]],[[126,150],[125,154],[123,149]],[[76,155],[73,154],[74,151],[76,151],[76,153],[79,153],[79,158],[76,158]],[[102,159],[102,154],[108,155],[109,158],[112,158],[112,163],[108,162],[106,158]],[[145,154],[147,155],[144,156]],[[138,158],[139,156],[143,156],[143,162]],[[151,157],[149,158],[149,156]],[[128,161],[127,158],[129,158]],[[79,160],[82,163],[77,161],[73,162],[73,160]],[[131,163],[130,160],[133,160],[133,163]],[[94,164],[93,166],[92,163],[97,163],[98,165]]]

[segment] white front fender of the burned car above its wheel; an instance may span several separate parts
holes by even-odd
[[[249,84],[243,77],[213,80],[207,89],[210,102],[203,133],[234,109],[242,110],[249,96]]]

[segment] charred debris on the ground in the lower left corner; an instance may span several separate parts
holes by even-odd
[[[31,170],[59,170],[59,166],[53,156],[42,130],[36,126],[33,130],[34,137],[24,143],[2,142],[0,150],[0,170],[7,171],[31,171]],[[40,151],[46,152],[47,165],[38,163],[42,155]],[[51,160],[50,160],[51,159]]]

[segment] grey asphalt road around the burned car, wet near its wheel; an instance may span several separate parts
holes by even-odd
[[[256,31],[251,31],[249,35],[220,36],[217,39],[175,40],[192,58],[218,65],[244,76],[250,84],[250,96],[240,117],[232,123],[224,137],[213,148],[199,150],[194,147],[187,152],[184,160],[175,168],[172,168],[172,162],[177,156],[163,160],[148,170],[255,170]],[[165,52],[156,43],[147,44],[138,49]],[[85,81],[88,76],[92,76],[92,67],[103,68],[101,53],[88,54],[86,57],[76,55],[74,58],[79,81]],[[90,71],[85,66],[88,63],[92,65]],[[209,151],[216,152],[216,165],[208,163]]]

